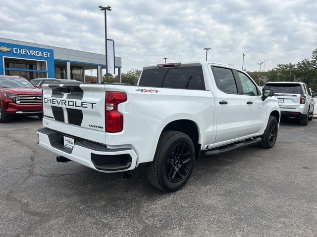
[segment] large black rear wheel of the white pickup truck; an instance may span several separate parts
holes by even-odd
[[[147,167],[150,183],[164,192],[174,192],[189,180],[195,163],[192,139],[178,131],[163,132],[153,162]]]

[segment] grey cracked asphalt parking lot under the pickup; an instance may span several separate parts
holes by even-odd
[[[0,236],[317,236],[317,119],[282,121],[276,145],[201,157],[162,193],[37,145],[37,117],[0,124]]]

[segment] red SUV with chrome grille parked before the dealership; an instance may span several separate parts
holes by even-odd
[[[12,115],[42,118],[42,90],[27,79],[0,76],[0,122]]]

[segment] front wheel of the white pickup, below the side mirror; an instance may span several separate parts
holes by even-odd
[[[266,128],[261,136],[262,141],[258,144],[261,148],[272,148],[276,142],[278,133],[278,123],[274,116],[270,116],[267,121]]]

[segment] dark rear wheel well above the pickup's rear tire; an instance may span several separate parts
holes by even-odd
[[[174,120],[165,125],[160,135],[165,131],[179,131],[188,135],[194,143],[196,159],[199,158],[201,150],[200,130],[196,122],[190,119]]]

